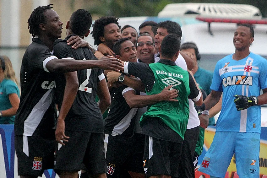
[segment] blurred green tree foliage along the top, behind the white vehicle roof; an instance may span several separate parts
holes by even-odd
[[[75,0],[73,0],[75,1]],[[267,17],[267,0],[99,0],[87,9],[98,15],[116,17],[156,16],[169,3],[238,3],[250,4],[260,9]]]

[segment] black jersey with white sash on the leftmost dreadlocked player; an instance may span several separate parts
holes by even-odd
[[[15,135],[54,136],[54,74],[45,66],[55,58],[39,38],[33,38],[26,49],[20,68],[21,97]]]

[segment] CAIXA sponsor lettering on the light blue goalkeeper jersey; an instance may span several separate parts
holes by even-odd
[[[224,87],[231,85],[252,85],[252,76],[237,75],[229,76],[222,79]]]

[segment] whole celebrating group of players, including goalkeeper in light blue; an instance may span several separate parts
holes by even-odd
[[[61,178],[76,178],[79,170],[81,177],[192,178],[208,110],[222,92],[215,138],[199,170],[224,177],[235,153],[239,177],[259,177],[267,61],[249,51],[251,25],[238,25],[236,51],[216,64],[212,79],[196,65],[197,46],[181,46],[176,22],[144,22],[138,34],[101,17],[91,33],[98,50],[83,40],[92,24],[87,10],[71,15],[64,40],[51,5],[37,7],[28,23],[33,42],[22,60],[14,125],[21,178],[46,169]]]

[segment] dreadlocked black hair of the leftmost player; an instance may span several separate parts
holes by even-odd
[[[39,35],[39,24],[46,22],[44,12],[47,9],[53,8],[51,5],[53,4],[49,4],[47,6],[39,6],[35,8],[30,14],[30,18],[28,19],[28,29],[32,37],[35,38]]]

